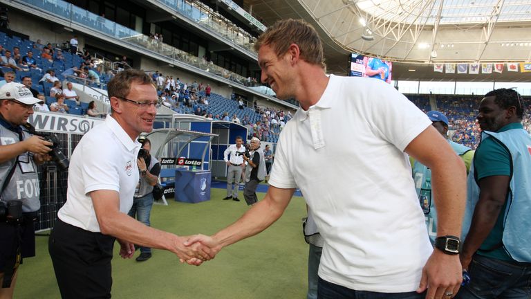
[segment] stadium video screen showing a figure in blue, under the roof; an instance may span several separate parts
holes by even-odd
[[[389,61],[352,53],[350,64],[350,76],[371,77],[391,83],[393,64]]]

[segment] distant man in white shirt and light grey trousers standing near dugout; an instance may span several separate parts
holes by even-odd
[[[227,197],[223,200],[231,199],[234,201],[240,201],[238,199],[238,188],[240,185],[241,172],[245,164],[243,164],[243,154],[245,153],[245,147],[242,146],[243,138],[236,136],[236,144],[230,145],[223,152],[223,159],[229,170],[227,172]],[[229,159],[230,154],[230,159]],[[234,189],[232,188],[232,179],[234,179]]]

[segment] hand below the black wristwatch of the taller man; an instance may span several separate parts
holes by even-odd
[[[459,255],[447,255],[434,249],[422,269],[417,293],[428,289],[426,299],[450,299],[456,296],[462,280]]]

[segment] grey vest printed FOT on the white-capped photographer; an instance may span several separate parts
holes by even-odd
[[[12,131],[12,129],[20,128],[14,128],[6,123],[6,120],[0,119],[0,145],[19,143],[19,133]],[[21,135],[22,140],[31,137],[24,130],[21,130]],[[15,172],[13,172],[6,186],[6,190],[3,190],[2,194],[0,194],[0,199],[2,201],[22,201],[23,212],[35,212],[39,210],[41,207],[41,202],[39,201],[39,176],[37,175],[37,165],[33,161],[33,155],[29,152],[25,152],[16,158],[0,164],[0,188],[13,165],[15,165]]]

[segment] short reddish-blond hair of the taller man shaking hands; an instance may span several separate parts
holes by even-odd
[[[286,19],[277,21],[260,35],[256,44],[254,44],[254,49],[259,51],[261,46],[268,45],[279,57],[288,51],[291,44],[299,46],[302,60],[326,69],[321,39],[319,39],[315,28],[304,20]]]

